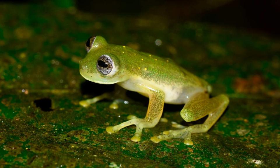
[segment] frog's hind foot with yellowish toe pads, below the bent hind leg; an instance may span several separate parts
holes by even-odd
[[[186,145],[192,145],[193,144],[193,142],[191,140],[192,130],[193,130],[192,126],[190,126],[190,127],[186,127],[183,129],[163,131],[162,133],[164,135],[153,136],[153,137],[151,137],[151,141],[153,141],[155,143],[159,143],[160,141],[168,140],[168,139],[172,139],[172,138],[183,138],[184,143]]]

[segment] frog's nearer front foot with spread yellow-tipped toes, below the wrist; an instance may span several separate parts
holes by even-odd
[[[128,121],[123,122],[123,123],[113,126],[113,127],[107,127],[106,131],[109,134],[113,134],[115,132],[118,132],[120,129],[127,127],[129,125],[136,125],[135,134],[130,140],[134,141],[134,142],[138,142],[141,140],[143,128],[150,128],[150,127],[154,126],[154,124],[151,124],[146,119],[137,118],[134,115],[129,115],[127,118],[129,119]]]

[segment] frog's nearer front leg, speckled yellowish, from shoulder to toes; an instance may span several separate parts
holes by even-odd
[[[149,106],[145,118],[136,118],[135,116],[130,116],[130,120],[123,122],[114,127],[107,127],[106,131],[109,134],[115,133],[120,129],[127,127],[129,125],[136,125],[136,131],[134,136],[131,138],[132,141],[138,142],[141,140],[141,134],[143,128],[154,127],[160,120],[164,105],[164,92],[157,89],[152,89],[141,84],[137,85],[137,92],[141,92],[149,97]]]

